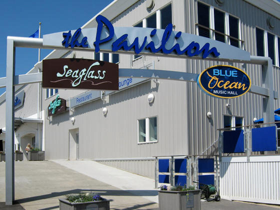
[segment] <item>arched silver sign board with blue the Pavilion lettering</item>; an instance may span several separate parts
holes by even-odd
[[[97,28],[78,28],[43,35],[43,45],[91,49],[95,52],[128,52],[165,56],[249,60],[248,52],[226,43],[181,31],[141,27],[113,27],[102,15],[96,17]],[[230,53],[229,53],[230,52]]]

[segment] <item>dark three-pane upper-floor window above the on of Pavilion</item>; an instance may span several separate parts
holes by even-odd
[[[243,41],[239,40],[238,18],[200,2],[197,2],[197,13],[198,35],[213,38],[232,46],[242,46]]]

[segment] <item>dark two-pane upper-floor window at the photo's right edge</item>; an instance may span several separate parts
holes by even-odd
[[[255,36],[256,55],[270,57],[273,65],[280,66],[280,38],[258,27]]]

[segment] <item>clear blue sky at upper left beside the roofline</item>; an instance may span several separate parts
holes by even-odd
[[[6,76],[6,37],[33,34],[41,22],[43,34],[77,29],[112,0],[3,0],[0,18],[0,77]],[[41,59],[51,50],[41,49]],[[17,47],[15,74],[29,71],[38,60],[38,49]],[[5,88],[0,88],[0,94]]]

